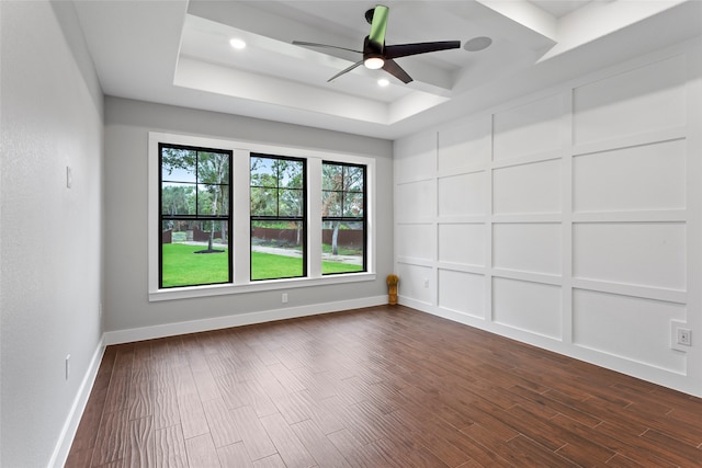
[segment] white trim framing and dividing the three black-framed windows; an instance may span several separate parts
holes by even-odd
[[[159,220],[159,144],[194,146],[231,150],[233,161],[233,227],[234,277],[230,284],[159,288],[158,251],[161,227]],[[249,279],[250,270],[250,202],[249,155],[304,158],[307,160],[307,276],[256,281]],[[347,162],[366,167],[366,255],[367,272],[339,275],[321,274],[321,162]],[[228,294],[288,289],[293,287],[324,286],[332,284],[375,281],[375,160],[373,158],[314,149],[301,149],[252,141],[235,141],[208,137],[149,132],[148,138],[148,290],[149,301],[184,299],[190,297],[220,296]]]

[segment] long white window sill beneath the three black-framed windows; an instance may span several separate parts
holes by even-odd
[[[297,287],[327,286],[375,281],[375,273],[347,273],[317,278],[286,278],[257,281],[246,284],[216,284],[207,286],[190,286],[149,292],[149,301],[188,299],[193,297],[225,296],[230,294],[260,293],[267,290],[292,289]]]

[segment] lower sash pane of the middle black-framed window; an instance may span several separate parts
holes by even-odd
[[[305,276],[302,221],[253,221],[251,226],[251,279]]]

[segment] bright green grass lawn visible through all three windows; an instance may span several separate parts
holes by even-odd
[[[195,286],[226,283],[228,256],[224,253],[193,252],[204,246],[166,243],[163,248],[163,287]],[[321,271],[329,273],[360,272],[361,265],[338,262],[321,262]],[[303,261],[294,256],[251,252],[251,279],[269,279],[302,276]]]

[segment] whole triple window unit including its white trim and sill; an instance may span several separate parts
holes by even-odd
[[[148,148],[149,300],[375,279],[373,158],[156,132]]]

